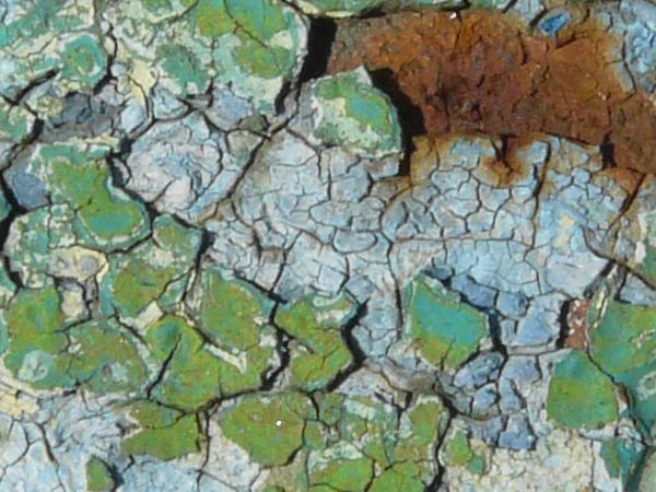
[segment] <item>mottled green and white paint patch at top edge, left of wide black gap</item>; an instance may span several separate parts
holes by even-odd
[[[119,30],[127,46],[150,54],[160,85],[174,97],[201,94],[210,83],[230,86],[254,103],[256,112],[274,110],[285,81],[300,71],[306,45],[306,20],[280,0],[131,0],[110,9],[115,25],[132,22],[156,33],[148,45],[140,31]],[[127,19],[126,19],[127,17]],[[128,39],[125,39],[128,38]],[[133,62],[132,49],[119,52]]]

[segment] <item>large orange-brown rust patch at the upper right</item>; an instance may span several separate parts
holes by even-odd
[[[619,167],[656,172],[654,104],[620,82],[613,62],[621,39],[578,17],[557,38],[532,35],[514,17],[490,11],[348,20],[329,71],[390,70],[421,109],[429,136],[543,132],[611,144]],[[512,164],[499,171],[503,178]]]

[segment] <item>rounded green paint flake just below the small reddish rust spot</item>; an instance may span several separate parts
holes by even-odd
[[[618,418],[614,386],[585,352],[572,351],[553,368],[547,413],[570,429],[602,426]]]

